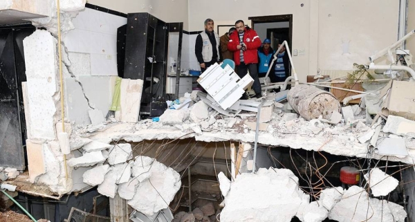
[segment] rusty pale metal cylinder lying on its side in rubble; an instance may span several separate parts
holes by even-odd
[[[331,119],[333,111],[340,112],[340,102],[335,96],[315,86],[301,84],[293,86],[287,95],[288,103],[306,120],[313,120],[320,115]]]

